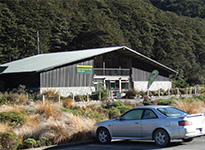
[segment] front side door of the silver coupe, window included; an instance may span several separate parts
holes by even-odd
[[[133,109],[113,123],[113,137],[141,137],[143,109]]]

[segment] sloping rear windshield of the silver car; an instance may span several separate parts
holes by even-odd
[[[162,107],[158,108],[157,110],[162,114],[166,115],[167,117],[185,117],[189,115],[188,113],[173,107]]]

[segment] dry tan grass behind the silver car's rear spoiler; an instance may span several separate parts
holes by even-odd
[[[205,113],[205,103],[203,101],[179,100],[173,106],[190,114]]]

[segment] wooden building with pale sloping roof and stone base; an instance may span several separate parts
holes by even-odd
[[[107,47],[39,54],[2,64],[0,83],[40,92],[53,89],[62,96],[91,93],[102,85],[120,93],[130,88],[146,91],[153,70],[159,75],[150,90],[170,89],[169,76],[176,71],[128,47]]]

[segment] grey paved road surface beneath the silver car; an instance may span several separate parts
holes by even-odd
[[[99,143],[52,147],[44,150],[205,150],[205,136],[195,138],[192,142],[184,143],[181,140],[172,141],[168,147],[159,148],[153,141],[125,141],[116,140],[111,144],[102,145]]]

